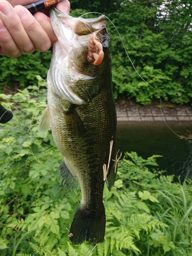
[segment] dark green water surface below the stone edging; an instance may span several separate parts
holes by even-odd
[[[168,123],[179,135],[192,137],[192,122]],[[192,139],[181,139],[168,129],[164,122],[118,122],[117,148],[122,153],[137,152],[146,159],[152,155],[157,158],[160,170],[167,174],[192,176]]]

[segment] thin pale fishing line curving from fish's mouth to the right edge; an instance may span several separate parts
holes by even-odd
[[[100,13],[100,12],[88,12],[88,13],[82,14],[80,17],[82,17],[82,16],[84,16],[84,15],[87,15],[87,14],[92,14],[92,13],[104,15],[104,14],[102,14],[102,13]],[[168,129],[169,129],[170,131],[172,131],[175,135],[177,135],[178,137],[180,137],[180,138],[182,138],[182,139],[192,139],[192,137],[189,137],[189,138],[188,138],[188,137],[180,136],[179,134],[177,134],[176,132],[174,132],[174,131],[170,128],[170,126],[167,124],[166,119],[165,119],[165,114],[162,112],[162,100],[161,100],[161,96],[159,95],[159,93],[157,92],[157,90],[156,90],[153,86],[151,86],[151,84],[149,84],[147,81],[145,81],[145,79],[139,74],[139,72],[138,72],[137,69],[135,68],[134,63],[132,62],[132,60],[131,60],[129,54],[127,53],[127,50],[126,50],[125,45],[124,45],[124,43],[123,43],[122,37],[121,37],[121,35],[120,35],[118,29],[116,28],[115,24],[114,24],[114,23],[112,22],[112,20],[111,20],[110,18],[108,18],[106,15],[104,15],[104,16],[111,22],[111,24],[113,25],[113,27],[114,27],[115,30],[117,31],[117,33],[118,33],[118,35],[119,35],[119,37],[120,37],[121,43],[122,43],[122,45],[123,45],[123,48],[124,48],[124,50],[125,50],[126,56],[129,58],[129,60],[130,60],[130,62],[131,62],[131,65],[133,66],[135,72],[136,72],[136,73],[138,74],[138,76],[147,84],[147,86],[150,86],[150,87],[156,92],[156,94],[158,95],[159,101],[160,101],[161,116],[163,117],[163,121],[164,121],[164,123],[166,124],[166,126],[168,127]]]

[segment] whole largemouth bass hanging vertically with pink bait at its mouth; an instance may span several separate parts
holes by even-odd
[[[81,188],[81,202],[70,228],[74,244],[102,243],[104,180],[109,190],[116,178],[116,111],[112,92],[110,37],[105,16],[74,18],[50,11],[54,42],[47,75],[48,106],[39,131],[51,126],[63,160],[63,184]]]

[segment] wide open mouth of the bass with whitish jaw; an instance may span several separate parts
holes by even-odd
[[[105,43],[101,45],[102,42],[109,39],[105,29],[105,15],[87,19],[82,17],[74,18],[53,8],[50,11],[50,17],[53,30],[66,55],[73,49],[74,42],[78,42],[81,46],[89,46],[89,51],[95,51],[97,47],[100,48],[100,51],[103,47],[105,49],[109,47]],[[104,53],[102,56],[104,56]],[[88,56],[88,61],[90,62],[94,60],[94,57],[91,57],[93,59]]]

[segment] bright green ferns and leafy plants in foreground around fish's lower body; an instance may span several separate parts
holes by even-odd
[[[62,156],[50,132],[38,133],[46,88],[37,78],[38,87],[0,94],[14,114],[0,129],[0,254],[191,255],[192,182],[174,183],[174,176],[148,167],[160,156],[144,160],[133,152],[120,160],[112,191],[104,187],[104,242],[71,244],[68,229],[81,194],[63,188]]]

